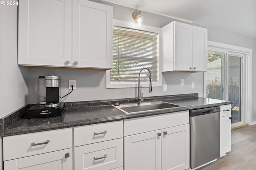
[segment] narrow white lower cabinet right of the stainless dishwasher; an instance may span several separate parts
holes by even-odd
[[[231,106],[220,106],[220,156],[231,150]]]

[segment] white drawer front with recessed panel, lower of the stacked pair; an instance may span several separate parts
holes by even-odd
[[[123,166],[123,139],[75,147],[75,170],[112,170]]]

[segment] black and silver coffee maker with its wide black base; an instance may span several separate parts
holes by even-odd
[[[39,103],[30,107],[27,118],[62,115],[64,102],[60,102],[60,76],[40,76]]]

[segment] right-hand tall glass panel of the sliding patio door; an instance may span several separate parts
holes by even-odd
[[[228,56],[228,100],[231,105],[232,121],[236,123],[242,121],[241,115],[241,68],[242,57]]]

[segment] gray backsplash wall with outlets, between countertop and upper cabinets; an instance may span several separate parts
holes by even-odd
[[[106,72],[98,70],[59,70],[30,68],[28,71],[28,89],[30,104],[38,102],[38,94],[34,92],[35,80],[44,75],[61,76],[60,96],[64,96],[68,90],[68,80],[76,80],[76,90],[73,90],[64,102],[77,102],[88,100],[104,100],[118,98],[137,97],[137,88],[106,89]],[[184,79],[184,86],[180,86],[180,78]],[[191,89],[191,82],[195,82],[195,89]],[[198,93],[203,96],[203,73],[171,73],[165,72],[162,76],[162,84],[167,84],[167,92],[162,87],[153,87],[153,92],[148,93],[148,88],[142,88],[144,96],[162,96],[171,94]]]

